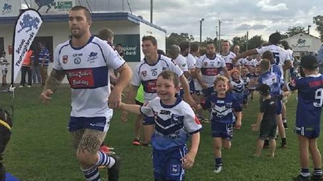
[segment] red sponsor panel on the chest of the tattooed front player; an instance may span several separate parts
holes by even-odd
[[[66,71],[72,88],[91,88],[94,86],[93,71],[91,69]]]

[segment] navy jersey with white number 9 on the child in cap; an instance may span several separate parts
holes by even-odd
[[[309,75],[292,80],[287,84],[288,90],[298,90],[296,126],[320,127],[323,105],[323,76]]]

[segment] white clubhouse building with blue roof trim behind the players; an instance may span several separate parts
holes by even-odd
[[[88,2],[88,3],[87,3]],[[11,62],[12,36],[19,9],[31,7],[39,9],[43,24],[35,38],[32,48],[36,52],[39,41],[46,44],[50,52],[69,39],[68,11],[74,5],[87,6],[92,11],[91,32],[96,35],[101,28],[110,28],[114,33],[114,44],[122,44],[124,59],[132,68],[143,59],[141,38],[152,35],[157,38],[159,49],[165,51],[166,30],[156,26],[141,17],[129,12],[107,12],[108,0],[0,0],[0,50],[6,51],[6,57]],[[41,6],[43,5],[43,6]],[[46,12],[48,10],[48,12]],[[50,72],[52,63],[48,71]],[[8,71],[7,81],[11,79],[11,68]],[[66,80],[65,80],[66,81]],[[20,75],[16,83],[20,82]]]

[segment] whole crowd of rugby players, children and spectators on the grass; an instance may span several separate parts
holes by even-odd
[[[317,139],[323,76],[318,73],[317,57],[303,56],[295,74],[298,67],[293,67],[293,52],[281,42],[278,32],[270,35],[268,44],[242,53],[239,45],[229,41],[223,41],[218,52],[214,42],[208,42],[203,55],[198,43],[189,42],[171,45],[165,54],[158,49],[155,37],[145,36],[145,58],[131,71],[113,46],[113,32],[105,28],[94,37],[90,26],[88,9],[75,6],[70,10],[72,39],[56,47],[53,70],[43,82],[40,95],[43,102],[49,103],[63,79],[68,78],[72,88],[68,129],[86,181],[100,181],[98,169],[102,167],[107,169],[109,181],[119,179],[121,158],[103,144],[113,109],[122,110],[122,121],[127,120],[128,112],[138,115],[133,144],[153,148],[155,181],[183,181],[185,170],[194,165],[198,152],[201,122],[211,124],[213,172],[221,173],[222,147],[231,148],[233,132],[244,126],[243,109],[248,101],[254,101],[256,91],[260,106],[252,130],[259,132],[259,139],[254,156],[259,157],[261,150],[269,147],[274,157],[278,134],[281,147],[287,146],[286,102],[293,90],[298,90],[295,133],[301,163],[301,172],[294,180],[322,180]],[[47,72],[48,51],[40,52],[40,72]],[[26,64],[24,75],[28,73]],[[289,83],[284,82],[286,71],[292,73]],[[129,84],[129,92],[121,102],[122,91]],[[204,110],[210,112],[209,118],[203,116]],[[189,137],[190,148],[186,145]],[[309,154],[314,163],[312,175]]]

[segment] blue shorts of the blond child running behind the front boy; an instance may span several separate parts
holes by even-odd
[[[233,137],[233,124],[213,121],[211,126],[211,134],[212,137],[222,137],[230,140]]]

